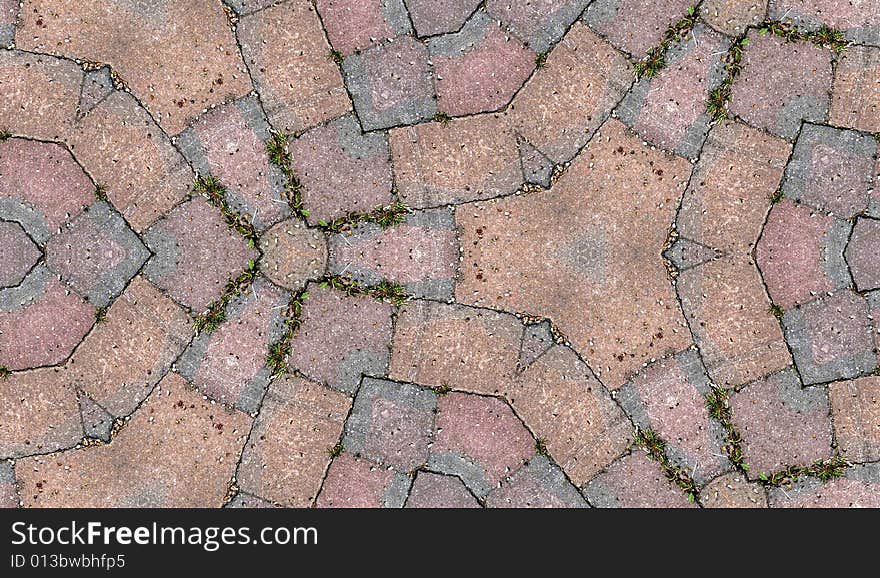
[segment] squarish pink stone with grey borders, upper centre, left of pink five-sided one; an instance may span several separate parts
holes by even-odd
[[[437,112],[428,49],[411,36],[349,56],[343,70],[364,130],[416,123]]]

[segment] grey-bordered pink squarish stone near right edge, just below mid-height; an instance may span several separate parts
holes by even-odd
[[[785,335],[805,384],[847,379],[877,367],[864,297],[838,291],[786,312]]]

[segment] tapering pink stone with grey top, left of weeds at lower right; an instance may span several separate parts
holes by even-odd
[[[666,441],[672,461],[698,484],[724,471],[724,431],[706,410],[709,379],[697,353],[684,351],[649,365],[617,392],[636,425]]]

